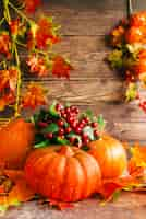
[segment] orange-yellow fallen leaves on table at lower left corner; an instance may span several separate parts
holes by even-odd
[[[0,206],[9,208],[10,206],[31,200],[34,197],[35,194],[28,187],[23,171],[3,170],[3,191],[0,192]]]

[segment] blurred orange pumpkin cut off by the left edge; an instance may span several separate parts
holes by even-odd
[[[34,127],[23,118],[10,122],[0,129],[0,164],[21,169],[34,140]]]

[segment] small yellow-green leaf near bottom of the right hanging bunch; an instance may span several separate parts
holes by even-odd
[[[135,83],[130,83],[129,84],[129,88],[126,90],[126,93],[125,93],[125,100],[126,101],[133,101],[134,99],[136,99],[136,95],[137,95],[137,84]]]

